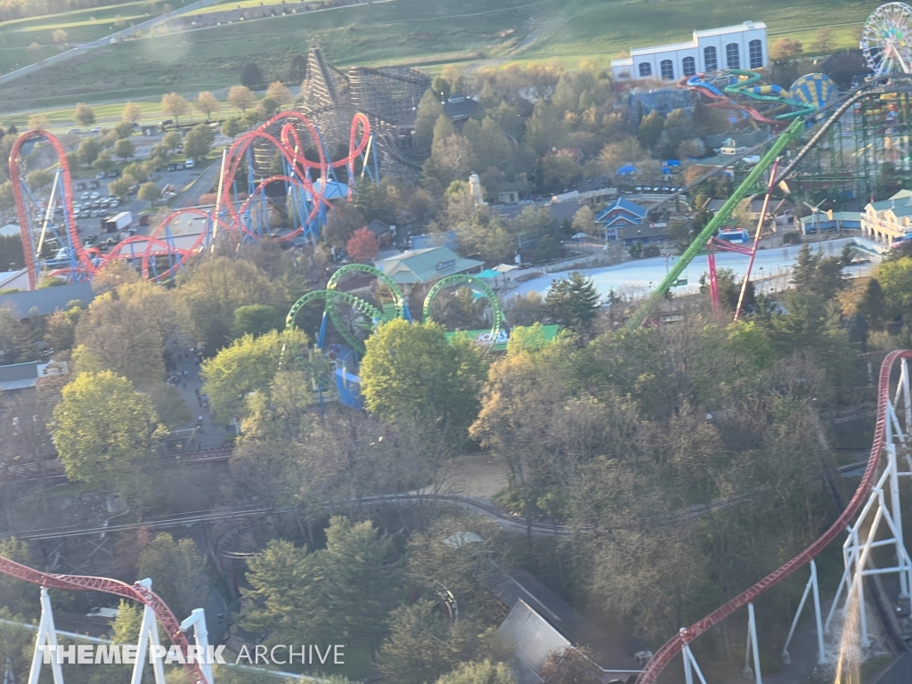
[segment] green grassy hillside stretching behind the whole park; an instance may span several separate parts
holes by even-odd
[[[239,3],[253,5],[253,0],[226,0],[212,11]],[[127,16],[128,10],[144,16],[150,5],[133,2],[11,22],[0,26],[0,47],[6,41],[7,47],[15,43],[21,51],[31,42],[29,36],[38,35],[47,42],[56,26],[64,26],[71,40],[74,34],[79,39],[97,37],[109,30],[114,16]],[[0,110],[226,88],[237,82],[248,61],[258,63],[268,78],[281,78],[291,58],[311,45],[323,47],[329,61],[340,67],[407,64],[435,71],[445,64],[498,57],[557,59],[567,67],[592,57],[607,65],[629,47],[684,40],[694,29],[751,19],[767,23],[771,40],[793,36],[808,47],[820,27],[830,26],[836,47],[849,47],[856,44],[860,26],[876,5],[859,0],[390,0],[106,47],[5,86]],[[527,41],[555,16],[562,21],[547,25],[550,32]],[[3,60],[16,49],[0,50],[0,67],[8,70]],[[46,48],[47,54],[51,49]]]

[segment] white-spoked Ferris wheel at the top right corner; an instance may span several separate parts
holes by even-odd
[[[905,3],[877,7],[865,22],[861,49],[875,76],[912,74],[912,7]]]

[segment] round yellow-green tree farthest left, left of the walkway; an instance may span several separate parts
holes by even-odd
[[[68,478],[128,491],[160,435],[150,399],[109,370],[80,373],[63,389],[51,431]]]

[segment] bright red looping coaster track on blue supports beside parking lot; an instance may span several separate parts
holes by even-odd
[[[304,127],[310,134],[311,140],[313,140],[317,153],[319,154],[319,161],[310,161],[304,156],[303,145],[298,130],[295,129],[295,122]],[[283,125],[279,137],[276,138],[274,135],[268,133],[267,130],[278,123],[282,123]],[[73,189],[69,164],[67,163],[67,151],[64,149],[63,145],[60,144],[60,141],[46,130],[29,130],[16,140],[16,144],[13,146],[9,157],[10,178],[13,181],[16,212],[19,219],[19,225],[21,226],[20,230],[22,231],[22,244],[26,259],[29,289],[34,290],[37,285],[36,259],[35,247],[32,244],[31,232],[28,228],[30,224],[28,210],[22,192],[22,171],[19,168],[19,156],[22,147],[26,142],[29,140],[42,139],[47,140],[57,152],[57,161],[60,165],[60,177],[63,186],[62,195],[64,198],[64,211],[66,212],[67,225],[69,226],[69,240],[73,245],[78,263],[75,274],[71,273],[68,268],[61,268],[54,271],[52,275],[92,275],[98,271],[99,268],[104,266],[104,264],[107,264],[113,259],[140,259],[142,275],[143,277],[148,278],[150,277],[150,260],[156,256],[171,254],[179,257],[180,261],[181,259],[185,259],[192,254],[195,254],[201,249],[207,236],[205,232],[201,232],[192,245],[181,248],[175,247],[172,243],[170,244],[161,237],[161,233],[166,231],[171,222],[179,216],[184,214],[208,216],[207,212],[203,212],[200,209],[181,209],[177,212],[172,212],[152,233],[150,233],[150,235],[134,235],[115,245],[108,254],[102,254],[97,248],[84,248],[79,242],[77,223],[73,215]],[[316,130],[316,126],[310,119],[307,119],[306,116],[295,111],[286,111],[276,114],[275,117],[269,119],[255,130],[251,130],[239,137],[228,150],[227,164],[224,169],[224,176],[221,183],[223,192],[220,199],[223,208],[228,213],[229,223],[224,223],[219,216],[212,217],[212,221],[220,223],[222,228],[234,235],[245,233],[251,238],[256,238],[257,236],[252,233],[250,228],[244,223],[243,214],[253,199],[254,193],[262,192],[269,183],[275,181],[283,181],[290,185],[295,185],[310,194],[313,198],[314,206],[306,221],[308,223],[314,221],[321,205],[326,205],[327,203],[325,199],[326,174],[329,169],[347,168],[349,175],[348,199],[351,199],[350,179],[354,174],[355,160],[368,149],[369,139],[370,122],[364,114],[357,113],[351,123],[351,132],[348,140],[348,155],[337,161],[327,161],[323,150],[323,144],[320,141],[319,131]],[[254,192],[250,192],[250,196],[244,202],[235,206],[232,197],[234,177],[241,168],[242,162],[246,156],[246,151],[256,140],[266,140],[275,145],[275,148],[281,152],[285,161],[294,169],[294,174],[293,177],[279,175],[264,179],[264,181],[259,183],[258,188]],[[318,188],[310,179],[310,171],[312,169],[319,173],[321,179]],[[281,237],[276,238],[276,240],[278,242],[285,242],[295,238],[303,231],[304,226],[300,225],[297,226],[292,233],[282,235]],[[131,252],[130,245],[134,244],[142,245],[142,251],[139,254]],[[179,264],[173,264],[167,271],[157,274],[154,277],[156,279],[171,277],[178,265]]]

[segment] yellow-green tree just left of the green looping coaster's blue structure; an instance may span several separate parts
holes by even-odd
[[[307,347],[307,336],[297,329],[271,330],[260,337],[244,335],[202,363],[203,389],[219,420],[244,416],[244,399],[266,392],[278,372],[279,361],[295,358]]]

